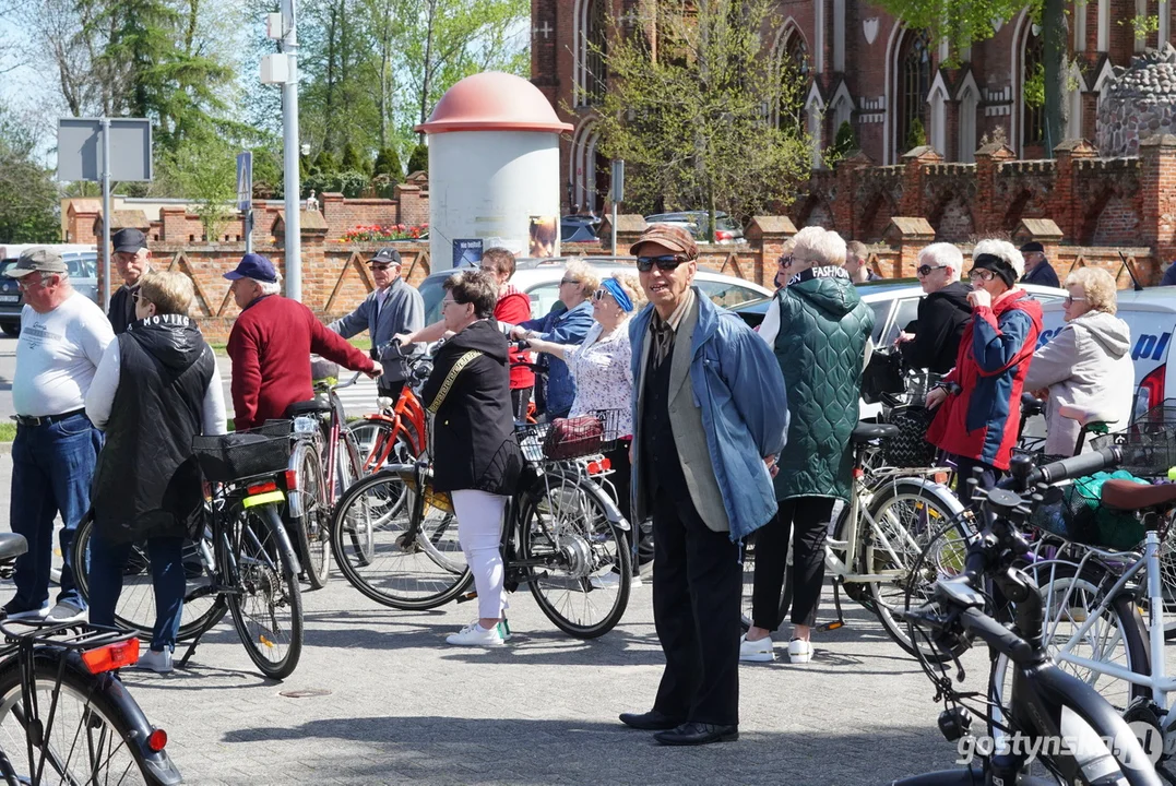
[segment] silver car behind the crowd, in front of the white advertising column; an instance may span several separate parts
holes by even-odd
[[[539,318],[552,310],[560,298],[560,278],[563,277],[563,266],[573,257],[553,257],[544,260],[522,258],[517,261],[510,283],[527,293],[530,297],[532,318]],[[636,258],[632,256],[586,256],[589,264],[600,270],[601,276],[614,273],[632,273],[637,275]],[[425,323],[432,324],[441,318],[441,300],[445,290],[441,284],[453,270],[437,270],[429,274],[417,289],[425,300]],[[750,281],[727,276],[709,270],[699,270],[694,283],[714,303],[731,308],[750,301],[763,300],[771,290]]]

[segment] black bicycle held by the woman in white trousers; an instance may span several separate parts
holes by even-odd
[[[549,428],[516,428],[527,470],[505,515],[505,583],[512,592],[527,585],[563,632],[595,638],[624,613],[632,576],[629,525],[588,476],[615,431],[606,422],[603,434],[579,448],[563,443],[568,451],[550,459],[543,449]],[[367,518],[376,533],[376,559],[367,570],[340,563],[348,580],[376,603],[422,611],[476,598],[468,591],[473,575],[457,543],[453,504],[433,491],[430,479],[427,458],[389,465],[352,486],[335,510],[336,544],[346,516]],[[400,495],[408,496],[407,516],[387,502]]]

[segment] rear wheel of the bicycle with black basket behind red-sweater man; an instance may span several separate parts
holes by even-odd
[[[239,509],[220,543],[233,625],[249,659],[272,679],[294,672],[302,654],[302,594],[283,564],[285,538],[274,505]]]

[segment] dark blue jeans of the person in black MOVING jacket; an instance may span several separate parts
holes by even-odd
[[[114,609],[122,594],[122,573],[132,545],[112,543],[98,531],[89,540],[89,622],[94,625],[115,624]],[[155,587],[155,629],[151,649],[156,652],[174,650],[187,589],[183,538],[147,538],[147,558]]]

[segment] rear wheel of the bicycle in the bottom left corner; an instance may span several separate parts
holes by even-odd
[[[66,666],[58,683],[54,659],[38,657],[34,694],[45,725],[40,741],[33,735],[32,765],[28,760],[28,728],[21,693],[20,665],[11,658],[0,672],[0,750],[21,784],[158,784],[136,747],[141,730],[123,716],[100,688],[109,676],[83,674]],[[55,706],[54,706],[55,703]],[[49,724],[49,708],[53,723]],[[44,761],[44,770],[42,767]],[[40,770],[40,779],[35,778]]]

